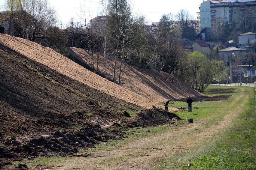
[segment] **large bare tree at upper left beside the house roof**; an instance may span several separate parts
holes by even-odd
[[[47,28],[56,25],[56,11],[50,8],[47,0],[8,0],[6,10],[11,11],[14,20],[19,21],[24,38],[31,41],[47,38]]]

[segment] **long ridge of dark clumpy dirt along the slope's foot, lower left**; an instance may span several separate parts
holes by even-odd
[[[112,126],[115,126],[112,125]],[[120,130],[121,132],[121,130]],[[76,155],[81,148],[92,148],[99,142],[121,139],[124,132],[103,130],[99,125],[85,123],[73,133],[55,131],[49,135],[20,142],[11,137],[0,146],[0,159],[8,164],[8,159],[19,161],[23,158]],[[1,165],[0,165],[1,167]]]

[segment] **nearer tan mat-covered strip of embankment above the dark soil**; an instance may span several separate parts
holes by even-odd
[[[145,97],[92,73],[81,65],[55,52],[53,49],[7,34],[0,34],[0,43],[22,55],[25,55],[26,57],[32,58],[33,60],[58,71],[59,73],[119,99],[138,104],[146,108],[150,108],[156,103],[156,101],[152,100],[146,102]]]

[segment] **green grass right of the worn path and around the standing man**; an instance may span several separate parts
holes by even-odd
[[[218,88],[229,88],[219,87]],[[209,86],[216,88],[216,86]],[[234,87],[232,87],[234,88]],[[256,169],[256,119],[254,90],[249,87],[235,87],[228,101],[209,101],[198,104],[198,115],[193,118],[201,121],[218,121],[229,111],[239,112],[233,125],[227,131],[218,134],[218,137],[207,141],[204,145],[187,150],[186,154],[179,155],[176,160],[172,157],[155,169],[187,169],[187,163],[191,163],[190,169]],[[239,98],[241,93],[245,93]],[[217,95],[217,94],[212,94]],[[225,94],[221,94],[225,95]],[[227,95],[230,95],[228,93]],[[233,102],[237,100],[236,102]],[[240,104],[242,103],[242,104]],[[193,102],[193,104],[195,104]],[[182,102],[175,102],[174,106],[184,106]],[[192,110],[193,111],[193,110]],[[193,114],[193,112],[192,112]],[[189,116],[191,113],[178,113],[179,116]],[[191,115],[192,116],[192,115]]]

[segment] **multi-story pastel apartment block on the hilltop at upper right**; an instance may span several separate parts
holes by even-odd
[[[203,0],[199,9],[201,29],[215,29],[221,22],[256,22],[255,0]]]

